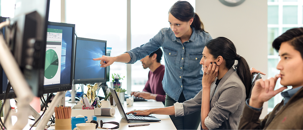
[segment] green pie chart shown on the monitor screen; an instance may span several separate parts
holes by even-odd
[[[44,77],[47,79],[54,78],[58,71],[59,60],[58,55],[53,49],[49,49],[45,54]]]

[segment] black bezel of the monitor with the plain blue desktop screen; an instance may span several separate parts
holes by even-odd
[[[94,42],[105,42],[105,55],[106,55],[106,46],[107,46],[107,41],[104,40],[97,40],[97,39],[90,39],[90,38],[80,38],[77,37],[77,40],[86,40],[86,41],[94,41]],[[76,48],[77,48],[77,42],[76,42]],[[75,49],[76,50],[76,49]],[[75,51],[76,54],[76,51]],[[76,58],[76,56],[75,56]],[[74,63],[75,65],[75,63]],[[74,77],[75,77],[75,73],[74,73]],[[106,82],[106,68],[105,68],[105,74],[104,74],[104,78],[98,78],[98,79],[81,79],[76,81],[74,79],[74,84],[94,84],[94,83],[102,83],[102,82]]]

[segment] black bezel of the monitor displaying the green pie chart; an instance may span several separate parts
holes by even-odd
[[[72,27],[72,65],[71,65],[71,79],[70,84],[65,86],[60,85],[50,85],[53,86],[52,88],[44,88],[43,85],[43,93],[53,93],[53,92],[60,92],[60,91],[67,91],[72,89],[73,79],[74,79],[74,66],[75,66],[75,24],[68,24],[68,23],[58,23],[58,22],[48,22],[48,25],[55,25],[55,26],[65,26],[65,27]]]

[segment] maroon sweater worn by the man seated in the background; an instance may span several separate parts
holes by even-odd
[[[144,92],[149,92],[152,94],[158,94],[156,101],[165,102],[165,92],[162,87],[162,80],[164,76],[165,66],[160,65],[154,72],[149,71],[148,80],[143,89]]]

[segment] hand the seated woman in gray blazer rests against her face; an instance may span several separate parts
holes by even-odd
[[[216,62],[210,63],[208,67],[204,68],[204,74],[202,77],[202,87],[210,87],[211,83],[215,81],[215,78],[218,76],[219,66]]]

